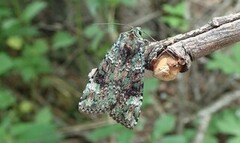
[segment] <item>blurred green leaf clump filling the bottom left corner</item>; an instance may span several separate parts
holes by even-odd
[[[0,142],[4,143],[26,143],[44,142],[54,143],[61,138],[57,125],[53,122],[49,108],[43,108],[30,122],[19,122],[16,120],[15,110],[4,110],[14,107],[17,103],[14,94],[6,89],[0,90]]]

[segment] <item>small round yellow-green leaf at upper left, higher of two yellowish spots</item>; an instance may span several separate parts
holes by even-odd
[[[23,45],[23,40],[19,36],[11,36],[7,39],[7,45],[14,50],[20,50]]]

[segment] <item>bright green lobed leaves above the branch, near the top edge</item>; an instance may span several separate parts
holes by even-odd
[[[186,12],[186,3],[184,1],[179,2],[177,5],[163,5],[163,11],[167,15],[161,16],[160,20],[168,24],[171,28],[179,30],[187,30],[188,25],[186,23],[185,12]]]

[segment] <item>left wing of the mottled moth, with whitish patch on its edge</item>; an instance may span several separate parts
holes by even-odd
[[[119,90],[116,90],[113,77],[118,69],[117,59],[121,59],[118,42],[106,54],[98,69],[93,69],[89,73],[89,82],[80,98],[79,111],[104,113],[116,103]]]

